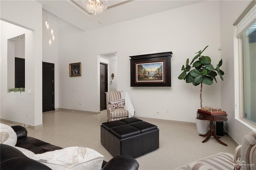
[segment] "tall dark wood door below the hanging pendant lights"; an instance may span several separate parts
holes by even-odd
[[[43,112],[54,111],[54,64],[43,62]]]

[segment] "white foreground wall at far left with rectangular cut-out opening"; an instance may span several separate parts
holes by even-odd
[[[24,32],[11,32],[11,26],[1,22],[1,118],[32,126],[42,125],[42,5],[36,1],[0,3],[1,20],[31,30],[25,33],[26,93],[10,94],[7,93],[7,39]],[[31,95],[28,89],[32,91]]]

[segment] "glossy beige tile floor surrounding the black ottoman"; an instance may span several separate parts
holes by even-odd
[[[145,118],[138,117],[138,119]],[[57,110],[43,113],[43,128],[27,128],[27,130],[28,136],[63,148],[69,146],[93,148],[108,161],[112,155],[100,143],[100,125],[106,121],[106,110],[100,114]],[[173,170],[218,152],[234,154],[236,146],[227,136],[221,137],[220,140],[228,146],[218,143],[213,137],[208,142],[202,143],[204,137],[198,135],[195,125],[169,123],[159,119],[145,121],[157,125],[160,129],[160,148],[136,158],[140,170]]]

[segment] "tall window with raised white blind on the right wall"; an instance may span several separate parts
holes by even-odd
[[[256,1],[234,23],[239,75],[240,118],[256,126]]]

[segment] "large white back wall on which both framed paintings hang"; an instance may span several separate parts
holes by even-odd
[[[196,110],[200,107],[200,87],[178,80],[178,75],[186,58],[192,59],[194,53],[206,45],[209,47],[204,55],[211,56],[214,65],[220,60],[219,9],[218,1],[206,1],[88,32],[59,30],[60,93],[63,95],[60,107],[98,112],[97,55],[117,51],[118,90],[129,91],[137,116],[195,122]],[[115,41],[109,41],[113,39]],[[174,53],[172,87],[130,87],[129,56],[148,51]],[[68,63],[80,61],[82,76],[69,77]],[[204,85],[203,105],[221,107],[220,79],[218,81],[211,86]],[[74,84],[81,87],[79,95],[71,91]],[[78,101],[85,103],[83,107],[78,106]],[[170,113],[167,114],[166,109]],[[160,113],[156,114],[156,110]]]

